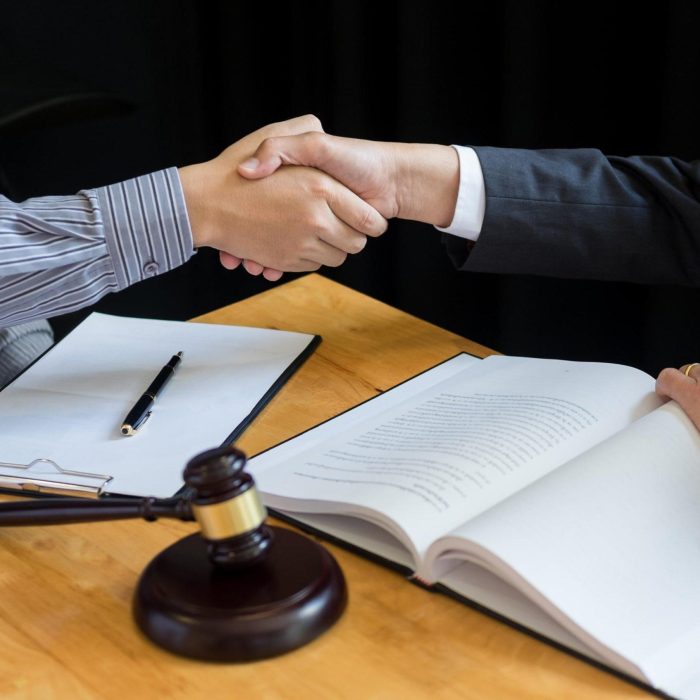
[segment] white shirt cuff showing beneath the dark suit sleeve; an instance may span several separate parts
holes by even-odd
[[[473,148],[452,146],[459,156],[459,191],[452,223],[446,228],[436,226],[453,236],[475,241],[481,233],[486,209],[486,187],[481,163]]]

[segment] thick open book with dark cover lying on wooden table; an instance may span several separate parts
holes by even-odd
[[[700,436],[643,372],[458,355],[250,471],[279,513],[700,697]]]

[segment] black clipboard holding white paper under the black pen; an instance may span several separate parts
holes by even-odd
[[[0,391],[0,492],[173,496],[187,460],[237,440],[320,342],[290,331],[93,313]],[[173,347],[185,357],[160,414],[143,434],[121,436],[123,407]]]

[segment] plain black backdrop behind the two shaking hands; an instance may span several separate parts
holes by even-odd
[[[23,0],[2,16],[15,198],[205,160],[308,112],[372,139],[698,157],[697,3]],[[324,274],[510,354],[700,359],[695,289],[458,273],[425,225],[392,222]],[[184,319],[269,286],[200,251],[98,308]]]

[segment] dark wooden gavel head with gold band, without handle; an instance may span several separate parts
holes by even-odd
[[[192,512],[216,566],[243,568],[257,564],[272,544],[255,482],[243,471],[246,456],[235,447],[218,447],[193,457],[185,467],[185,484],[194,491]]]

